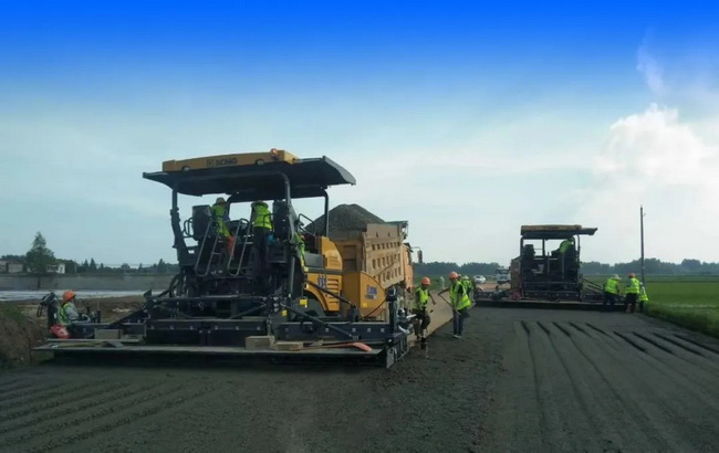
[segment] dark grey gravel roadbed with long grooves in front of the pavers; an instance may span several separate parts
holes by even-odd
[[[0,451],[707,452],[718,382],[719,341],[643,315],[476,307],[461,340],[446,324],[427,354],[387,370],[183,360],[2,371]]]

